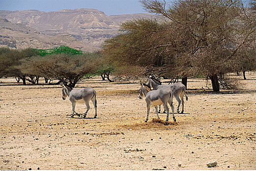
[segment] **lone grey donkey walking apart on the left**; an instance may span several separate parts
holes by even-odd
[[[87,109],[84,113],[84,118],[86,117],[86,114],[88,113],[88,110],[90,109],[89,106],[89,101],[91,100],[95,109],[95,116],[94,118],[97,117],[97,100],[96,100],[96,91],[91,88],[91,87],[85,87],[85,88],[78,88],[78,89],[73,89],[69,86],[62,85],[62,99],[65,100],[66,97],[69,97],[70,102],[72,103],[72,110],[73,113],[71,117],[74,117],[74,114],[77,116],[80,116],[75,111],[76,103],[85,103]]]

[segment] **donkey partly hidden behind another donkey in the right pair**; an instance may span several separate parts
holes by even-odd
[[[149,85],[150,87],[152,87],[154,90],[162,88],[162,87],[168,87],[171,89],[171,91],[173,92],[173,95],[175,97],[175,99],[178,101],[178,107],[177,107],[177,113],[179,113],[179,107],[180,107],[180,103],[182,103],[182,110],[181,113],[184,112],[184,100],[183,97],[184,95],[186,96],[186,100],[188,100],[188,96],[186,94],[186,86],[183,85],[182,83],[174,83],[171,85],[162,85],[161,82],[155,78],[149,77],[149,81],[147,83],[147,85]],[[179,96],[181,98],[181,100],[179,99]],[[159,106],[159,113],[161,111],[161,106]],[[165,110],[164,110],[165,113]]]

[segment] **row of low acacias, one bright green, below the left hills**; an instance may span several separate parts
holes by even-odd
[[[17,82],[23,80],[38,84],[39,77],[45,82],[58,80],[74,87],[82,78],[93,75],[103,75],[109,81],[113,66],[102,59],[100,52],[83,52],[67,46],[54,49],[0,49],[0,75],[17,77]]]

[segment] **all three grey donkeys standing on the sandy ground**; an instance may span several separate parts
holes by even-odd
[[[86,111],[84,114],[84,118],[86,117],[88,110],[90,109],[89,101],[91,100],[95,109],[95,115],[94,118],[97,117],[97,100],[96,100],[96,91],[91,87],[85,87],[85,88],[77,88],[72,89],[71,87],[67,85],[62,85],[62,99],[65,100],[66,97],[69,97],[70,102],[72,103],[72,114],[71,117],[74,117],[74,115],[77,115],[80,117],[80,114],[78,114],[75,111],[76,103],[85,103],[86,105]],[[139,98],[142,99],[142,97],[145,97],[146,106],[147,106],[147,116],[145,122],[148,121],[149,116],[149,110],[150,106],[155,107],[155,112],[157,115],[157,118],[159,118],[158,113],[161,111],[161,105],[164,106],[164,113],[167,112],[166,121],[169,121],[169,107],[168,104],[171,106],[172,111],[172,118],[173,121],[176,122],[175,116],[174,116],[174,107],[172,105],[172,99],[173,96],[178,101],[178,107],[177,107],[177,113],[179,113],[179,107],[180,104],[182,104],[182,110],[181,113],[184,112],[184,95],[186,96],[186,100],[188,100],[188,96],[186,94],[186,87],[185,85],[181,83],[174,83],[171,85],[162,85],[161,82],[155,78],[150,77],[147,84],[140,81],[140,93]],[[153,90],[151,90],[153,88]],[[181,98],[181,100],[179,99]],[[159,106],[159,111],[157,106]],[[82,115],[83,115],[82,114]]]

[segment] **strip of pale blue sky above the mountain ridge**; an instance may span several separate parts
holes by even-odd
[[[0,10],[49,12],[77,8],[94,8],[108,16],[146,13],[139,0],[0,0]]]

